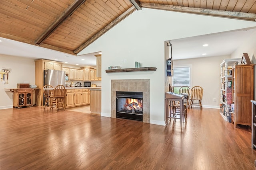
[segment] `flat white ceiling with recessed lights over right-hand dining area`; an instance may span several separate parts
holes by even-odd
[[[170,40],[172,57],[176,60],[231,55],[255,31],[253,28]],[[203,47],[204,44],[208,46]]]

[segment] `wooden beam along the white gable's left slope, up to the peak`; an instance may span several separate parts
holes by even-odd
[[[80,47],[78,47],[74,53],[78,54],[80,51],[82,51],[85,47],[93,43],[96,39],[98,39],[100,36],[102,36],[104,33],[106,33],[108,30],[110,30],[112,27],[114,27],[116,24],[118,24],[120,21],[124,20],[127,16],[132,14],[132,12],[136,11],[136,8],[132,6],[129,8],[126,12],[121,14],[118,18],[116,18],[114,21],[110,22],[106,27],[104,27],[102,30],[100,30],[98,33],[96,33],[94,36],[92,36],[88,41],[86,41],[84,44],[82,44]]]

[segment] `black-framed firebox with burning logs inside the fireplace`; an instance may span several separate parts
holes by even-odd
[[[143,93],[116,92],[116,117],[143,120]]]

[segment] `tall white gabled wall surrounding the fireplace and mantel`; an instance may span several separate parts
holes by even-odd
[[[102,114],[110,114],[111,79],[149,78],[150,123],[164,125],[164,41],[254,26],[256,23],[251,21],[143,8],[118,23],[79,55],[102,51]],[[123,59],[126,59],[127,63],[122,63]],[[133,68],[135,61],[141,62],[142,67],[156,67],[157,70],[108,74],[105,72],[108,66]]]

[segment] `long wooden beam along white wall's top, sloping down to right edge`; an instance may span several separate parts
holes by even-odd
[[[203,9],[203,8],[190,8],[190,7],[184,7],[184,6],[162,5],[162,4],[152,4],[152,3],[140,3],[140,5],[144,8],[152,8],[152,9],[158,9],[158,10],[185,12],[185,13],[192,13],[192,14],[233,18],[233,19],[239,19],[239,20],[256,21],[256,14],[244,13],[244,12],[209,10],[209,9]]]

